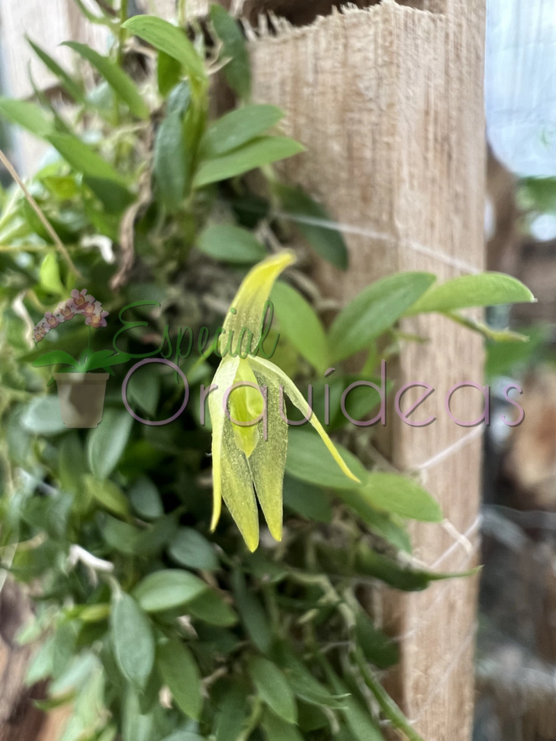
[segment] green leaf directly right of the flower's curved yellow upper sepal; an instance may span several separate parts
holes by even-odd
[[[280,332],[285,334],[299,354],[319,373],[328,368],[328,340],[317,313],[299,291],[281,281],[271,293],[279,319]]]

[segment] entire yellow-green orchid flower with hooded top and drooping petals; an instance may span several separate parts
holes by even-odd
[[[257,356],[268,296],[282,270],[294,262],[294,253],[285,250],[260,262],[245,277],[219,337],[222,362],[208,396],[214,491],[211,530],[218,523],[223,498],[251,551],[259,545],[254,489],[272,536],[282,539],[288,423],[285,411],[280,413],[281,390],[308,417],[345,475],[359,481],[294,382],[274,363]]]

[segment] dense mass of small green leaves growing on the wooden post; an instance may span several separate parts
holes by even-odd
[[[373,741],[383,739],[383,723],[416,740],[380,685],[397,645],[375,625],[366,596],[377,579],[412,591],[446,577],[419,567],[406,533],[408,519],[440,522],[442,514],[417,481],[373,467],[368,430],[349,428],[340,413],[342,391],[374,379],[377,348],[388,355],[411,341],[397,329],[403,316],[438,311],[489,334],[457,312],[531,295],[506,276],[437,285],[428,273],[402,273],[363,290],[325,330],[322,296],[302,268],[312,254],[344,269],[347,250],[322,224],[322,207],[272,170],[303,147],[276,130],[276,107],[249,102],[236,21],[214,6],[206,25],[184,30],[152,16],[126,19],[126,7],[120,16],[108,1],[100,14],[83,7],[114,38],[108,56],[69,44],[93,68],[93,89],[30,41],[59,80],[59,99],[38,88],[33,101],[0,99],[5,119],[50,145],[27,184],[49,228],[17,188],[2,193],[0,214],[0,554],[4,571],[33,585],[36,614],[19,634],[37,645],[27,681],[49,680],[43,708],[71,706],[62,741]],[[219,70],[239,107],[210,121],[209,80]],[[243,177],[254,169],[265,182],[257,192]],[[102,307],[112,318],[133,303],[118,362],[168,357],[169,326],[216,334],[248,268],[283,256],[282,245],[294,247],[298,263],[267,286],[281,335],[272,373],[311,383],[317,398],[328,383],[327,430],[342,444],[327,448],[314,431],[292,428],[281,462],[259,460],[274,485],[267,519],[281,539],[262,529],[251,553],[227,511],[210,531],[216,455],[196,405],[169,425],[134,422],[117,368],[99,427],[68,431],[37,366],[75,370],[66,355],[93,326],[102,325],[109,347],[115,328],[104,328]],[[91,313],[89,328],[61,333],[73,308]],[[33,347],[42,316],[46,359]],[[181,339],[178,362],[198,398],[219,358],[180,354]],[[341,370],[361,350],[362,370]],[[84,352],[89,371],[116,357],[105,350],[91,365]],[[225,358],[218,372],[235,379],[235,363]],[[338,370],[325,379],[332,363]],[[240,373],[257,379],[263,365]],[[305,407],[289,378],[286,391]],[[127,390],[153,421],[171,416],[181,395],[162,364],[139,369]],[[351,394],[351,417],[366,419],[377,401],[365,389]],[[254,501],[251,477],[232,477],[257,450],[257,428],[232,429],[232,445],[216,413],[211,421],[227,476],[222,494],[234,492],[232,508]],[[251,547],[254,516],[242,527]]]

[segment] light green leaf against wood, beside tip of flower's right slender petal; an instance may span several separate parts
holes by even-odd
[[[358,489],[377,509],[423,522],[442,522],[440,505],[420,485],[397,473],[371,472]]]

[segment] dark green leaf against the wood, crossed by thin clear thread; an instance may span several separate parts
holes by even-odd
[[[288,185],[274,183],[272,186],[282,204],[282,209],[289,216],[322,259],[328,260],[340,270],[348,267],[348,248],[342,234],[334,227],[323,226],[319,222],[330,222],[326,210],[305,190]]]

